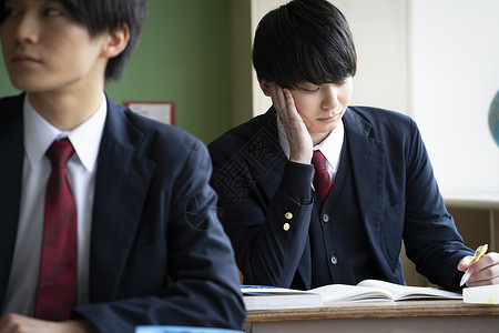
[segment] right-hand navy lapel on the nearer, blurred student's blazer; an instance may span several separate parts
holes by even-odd
[[[105,302],[118,290],[133,245],[154,163],[141,157],[143,135],[108,99],[98,158],[90,252],[90,300]]]

